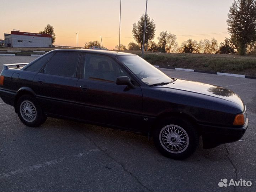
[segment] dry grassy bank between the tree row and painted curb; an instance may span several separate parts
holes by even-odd
[[[129,51],[126,51],[129,52]],[[132,52],[136,54],[136,52]],[[141,56],[141,52],[137,52]],[[203,71],[256,76],[256,55],[152,53],[145,52],[144,59],[160,67],[176,67]]]

